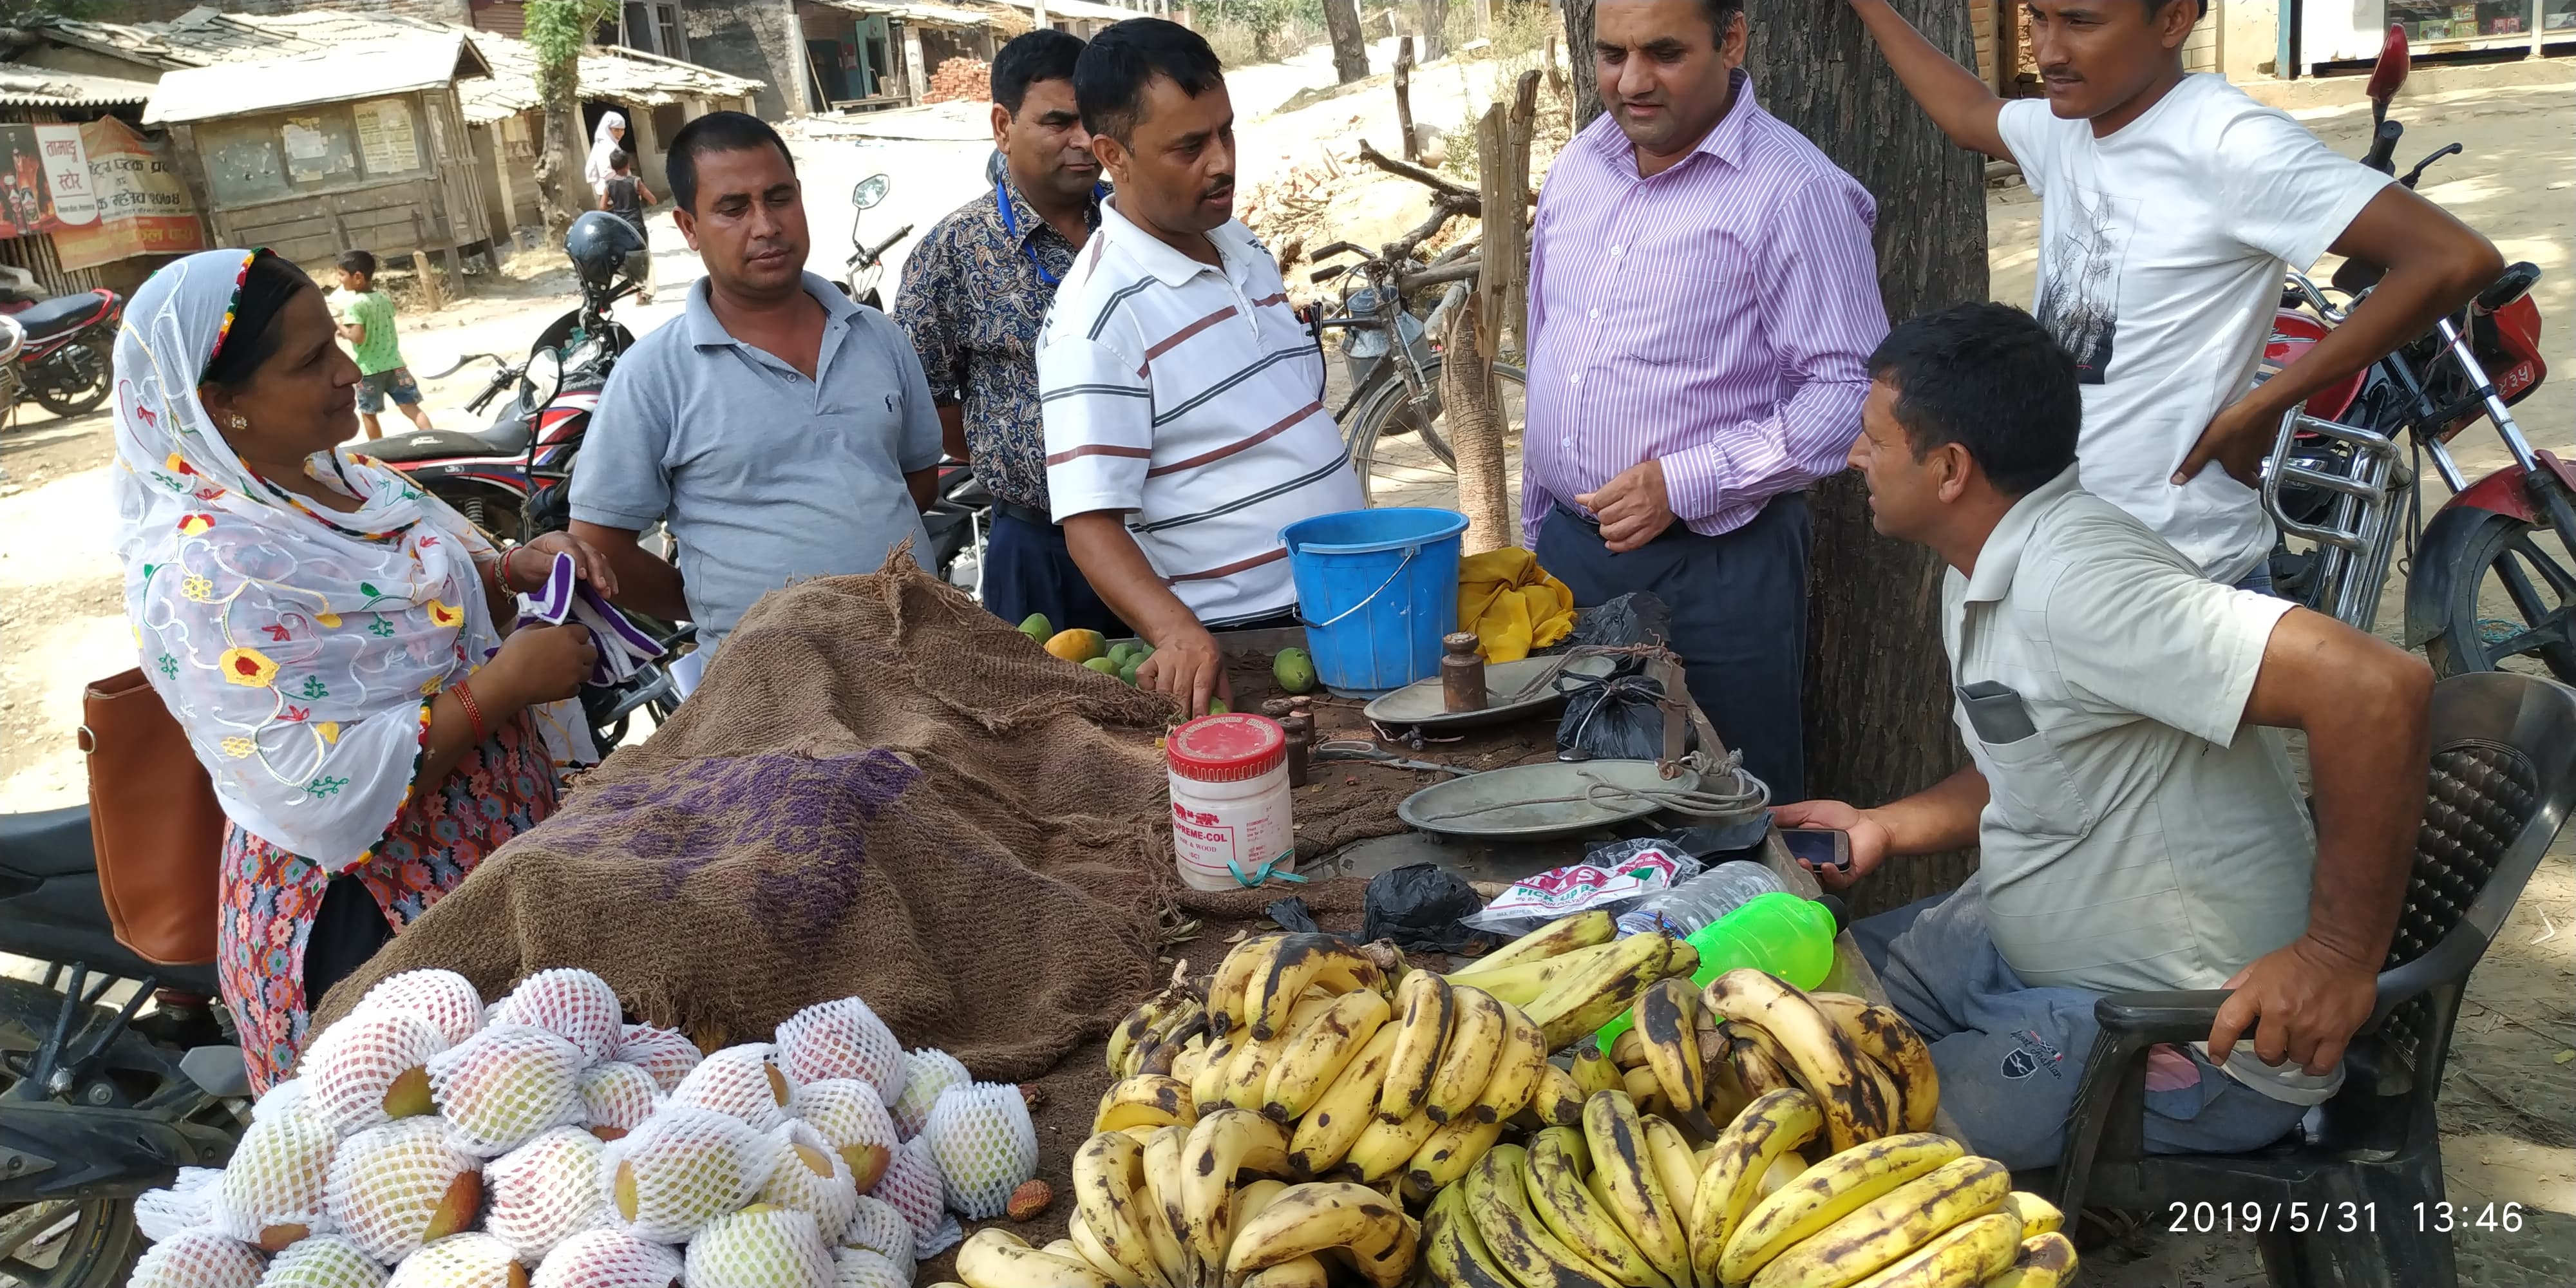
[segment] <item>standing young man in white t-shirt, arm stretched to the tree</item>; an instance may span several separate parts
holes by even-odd
[[[2184,75],[2208,0],[2027,0],[2045,103],[1996,98],[1888,0],[1850,3],[1932,121],[2040,196],[2032,312],[2084,379],[2084,489],[2208,577],[2269,590],[2272,520],[2251,484],[2282,412],[2496,281],[2496,247],[2226,77]],[[2388,276],[2249,392],[2282,265],[2326,250]]]

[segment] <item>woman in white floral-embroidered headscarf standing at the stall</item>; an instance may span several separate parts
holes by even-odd
[[[502,636],[551,559],[355,456],[358,366],[270,252],[152,276],[116,337],[116,554],[144,675],[214,778],[219,976],[252,1084],[307,1007],[554,811],[536,708],[590,675],[577,626]],[[611,587],[605,562],[567,536]]]

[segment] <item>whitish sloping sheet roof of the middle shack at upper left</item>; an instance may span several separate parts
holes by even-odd
[[[144,103],[144,124],[247,116],[301,108],[304,103],[348,103],[353,98],[435,90],[482,75],[489,75],[489,70],[461,31],[417,31],[399,39],[389,36],[270,59],[173,67],[152,88],[152,100]]]

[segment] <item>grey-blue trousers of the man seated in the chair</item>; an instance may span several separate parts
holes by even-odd
[[[1986,891],[1976,876],[1950,894],[1852,922],[1852,940],[1896,1012],[1932,1043],[1940,1103],[1968,1149],[2012,1170],[2053,1167],[2099,1033],[2092,1007],[2102,994],[2022,984],[1986,938]],[[2146,1092],[2151,1151],[2241,1154],[2282,1139],[2308,1113],[2236,1082],[2190,1046],[2179,1051],[2200,1079]]]

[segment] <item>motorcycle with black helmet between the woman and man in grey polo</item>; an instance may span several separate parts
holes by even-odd
[[[567,242],[574,247],[582,304],[556,317],[538,332],[526,361],[500,366],[492,381],[466,402],[469,412],[482,415],[495,399],[510,394],[489,428],[392,435],[374,443],[368,456],[453,505],[497,544],[526,544],[569,528],[572,466],[590,433],[590,417],[600,407],[608,374],[618,355],[634,348],[634,332],[611,317],[616,301],[639,289],[634,278],[623,276],[629,237],[634,229],[613,214],[590,211],[574,219]],[[461,358],[448,371],[477,358],[500,363],[497,355],[479,353]],[[654,554],[670,556],[665,531],[654,528],[644,544]],[[603,752],[626,737],[636,711],[649,708],[662,721],[680,708],[670,662],[696,639],[693,626],[654,621],[634,611],[626,616],[662,644],[662,657],[616,685],[582,688],[590,737]]]

